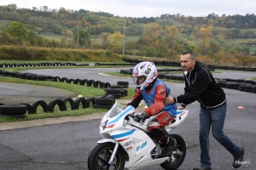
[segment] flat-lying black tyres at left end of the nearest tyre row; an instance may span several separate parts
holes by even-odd
[[[0,116],[26,117],[26,105],[0,105]]]

